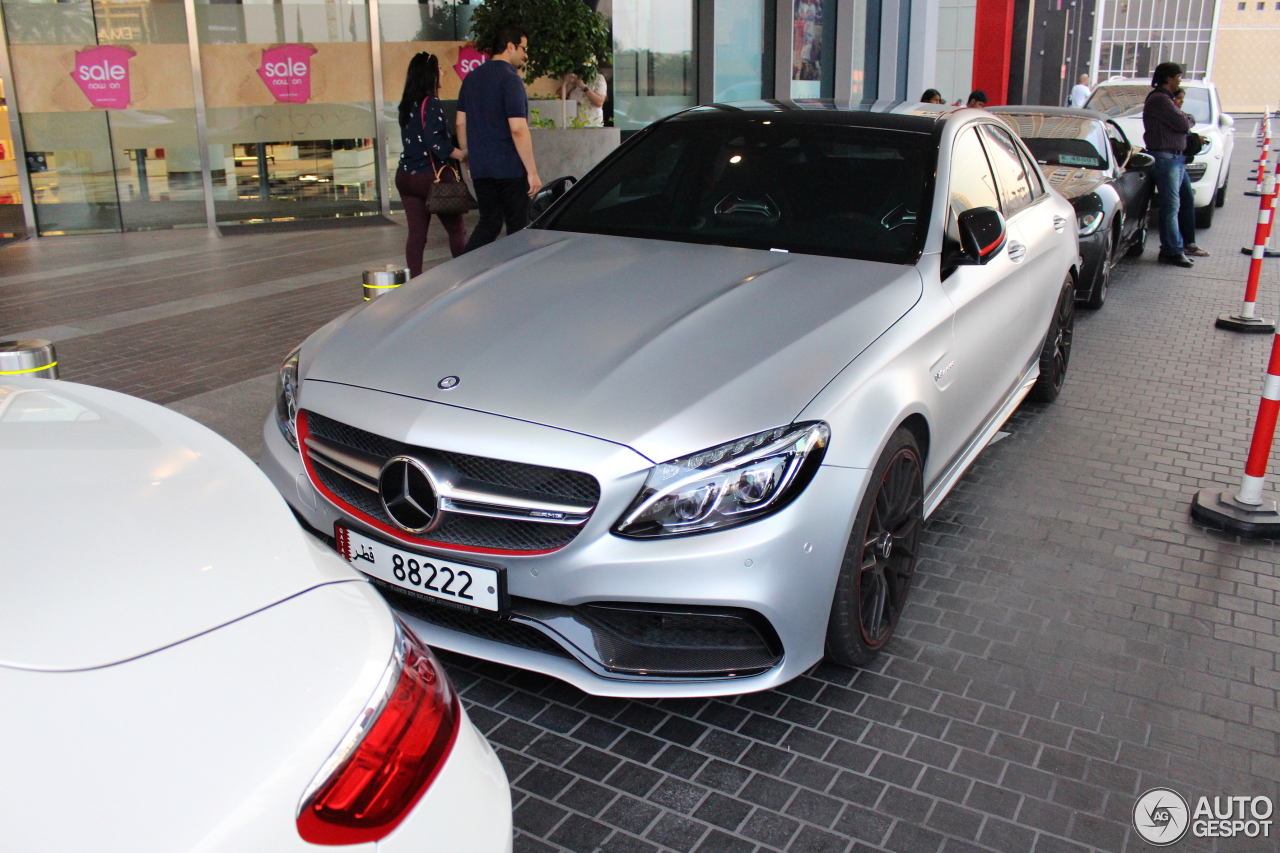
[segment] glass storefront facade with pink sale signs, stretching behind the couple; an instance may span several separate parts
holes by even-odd
[[[439,56],[452,117],[484,60],[466,41],[480,1],[0,0],[0,237],[28,222],[44,236],[398,207],[404,72],[420,51]],[[840,35],[846,3],[854,32]],[[699,93],[874,95],[879,0],[598,6],[614,45],[605,115],[625,132]],[[841,86],[837,46],[851,54]]]

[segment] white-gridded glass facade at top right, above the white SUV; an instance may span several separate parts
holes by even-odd
[[[1149,78],[1162,61],[1181,63],[1187,77],[1206,77],[1215,12],[1215,0],[1106,0],[1098,28],[1097,81]]]

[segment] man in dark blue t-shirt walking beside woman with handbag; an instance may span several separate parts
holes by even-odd
[[[529,133],[529,95],[520,69],[529,61],[529,37],[500,27],[493,55],[462,81],[458,92],[458,141],[467,150],[480,224],[463,251],[486,246],[502,233],[529,224],[529,200],[543,182]]]

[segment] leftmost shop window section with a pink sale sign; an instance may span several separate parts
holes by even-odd
[[[40,232],[204,224],[182,3],[4,12]]]

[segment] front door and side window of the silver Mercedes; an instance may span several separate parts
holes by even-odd
[[[956,218],[974,207],[1001,209],[998,187],[978,137],[970,124],[956,134],[951,149],[948,210],[945,254],[959,251]],[[1007,223],[1006,223],[1007,224]],[[954,261],[943,266],[942,289],[955,310],[951,352],[933,370],[942,391],[941,407],[946,430],[940,430],[938,451],[950,460],[988,415],[1007,396],[1021,369],[1023,345],[1012,333],[1024,323],[1027,283],[1021,275],[1025,246],[1010,229],[1005,248],[987,264]]]

